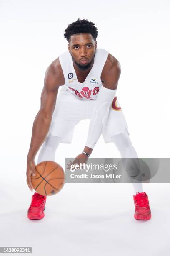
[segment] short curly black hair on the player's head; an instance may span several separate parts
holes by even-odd
[[[65,29],[64,37],[67,39],[67,41],[70,40],[70,37],[75,34],[80,33],[89,33],[92,35],[94,40],[97,38],[97,28],[94,26],[95,24],[88,20],[80,20],[77,19],[77,21],[72,22],[67,26]]]

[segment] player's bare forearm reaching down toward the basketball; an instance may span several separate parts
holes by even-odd
[[[45,118],[40,112],[37,113],[32,127],[32,137],[27,159],[35,159],[38,150],[47,136],[51,120],[52,118]]]

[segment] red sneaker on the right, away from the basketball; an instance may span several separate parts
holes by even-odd
[[[134,218],[136,220],[150,220],[151,211],[149,206],[148,195],[146,195],[145,192],[137,192],[136,195],[133,196],[133,200],[135,204]]]

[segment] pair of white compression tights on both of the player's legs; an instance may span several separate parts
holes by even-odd
[[[61,140],[62,138],[49,134],[42,144],[37,164],[42,161],[55,161],[55,151]],[[127,131],[125,133],[112,136],[112,142],[115,143],[115,146],[119,150],[121,158],[138,158]],[[133,187],[135,195],[136,192],[143,192],[142,183],[133,183]]]

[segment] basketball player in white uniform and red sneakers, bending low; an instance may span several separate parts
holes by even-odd
[[[55,161],[59,143],[71,143],[75,125],[90,119],[87,142],[75,162],[87,162],[97,140],[113,142],[122,158],[138,158],[128,133],[128,125],[117,102],[116,91],[121,67],[117,59],[104,49],[97,49],[97,28],[85,19],[73,22],[65,29],[68,51],[47,68],[41,94],[41,107],[33,128],[27,156],[27,184],[32,191],[31,175],[37,164]],[[61,87],[59,95],[58,89]],[[57,99],[57,100],[56,100]],[[133,183],[135,215],[138,220],[149,220],[151,211],[142,183]],[[46,196],[32,195],[29,219],[44,217]]]

